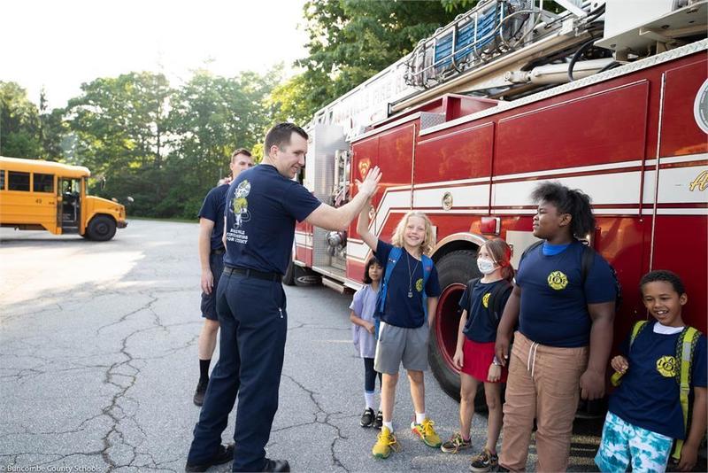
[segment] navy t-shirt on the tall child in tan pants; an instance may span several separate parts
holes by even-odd
[[[566,348],[589,344],[588,304],[615,300],[616,289],[610,265],[597,253],[583,286],[583,252],[577,240],[554,255],[539,245],[519,263],[519,331],[530,340]]]

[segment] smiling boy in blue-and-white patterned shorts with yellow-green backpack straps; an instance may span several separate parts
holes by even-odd
[[[681,318],[688,296],[679,276],[651,271],[640,288],[655,320],[636,322],[612,358],[612,384],[620,386],[610,396],[595,462],[602,471],[624,472],[631,462],[635,472],[662,472],[675,439],[673,459],[690,471],[705,433],[705,336]]]

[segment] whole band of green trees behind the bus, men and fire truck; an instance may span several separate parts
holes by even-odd
[[[150,72],[99,77],[65,109],[37,107],[0,82],[0,154],[89,167],[92,193],[125,202],[129,215],[196,218],[206,192],[227,175],[236,147],[262,159],[274,122],[304,124],[327,105],[404,57],[420,39],[476,0],[310,0],[302,74],[220,77],[198,70],[179,87]],[[104,185],[99,185],[100,182]]]

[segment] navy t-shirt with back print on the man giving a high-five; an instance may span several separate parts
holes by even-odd
[[[226,199],[227,266],[285,274],[295,237],[321,202],[271,165],[238,174]]]

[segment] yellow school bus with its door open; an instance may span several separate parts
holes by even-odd
[[[90,175],[87,167],[0,156],[0,227],[110,240],[127,226],[126,207],[87,195]]]

